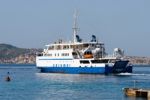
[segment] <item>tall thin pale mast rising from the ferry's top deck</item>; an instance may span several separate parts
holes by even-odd
[[[77,32],[79,31],[79,28],[77,26],[77,18],[78,18],[78,11],[77,9],[75,9],[75,12],[74,12],[74,23],[73,23],[73,42],[75,43],[76,42],[76,35],[77,35]]]

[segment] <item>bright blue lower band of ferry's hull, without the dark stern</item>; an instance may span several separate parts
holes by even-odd
[[[105,67],[39,67],[45,73],[105,74]]]

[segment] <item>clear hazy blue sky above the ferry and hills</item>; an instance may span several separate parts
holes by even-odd
[[[106,51],[150,57],[150,0],[0,0],[0,43],[44,48],[72,40],[73,14],[78,35],[105,43]]]

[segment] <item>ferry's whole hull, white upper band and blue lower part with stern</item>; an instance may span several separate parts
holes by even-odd
[[[83,60],[82,60],[83,61]],[[84,60],[87,61],[87,60]],[[66,63],[65,63],[66,62]],[[80,60],[60,60],[49,58],[37,58],[37,68],[43,73],[68,73],[68,74],[114,74],[132,73],[132,66],[128,60],[119,60],[115,63],[82,63]]]

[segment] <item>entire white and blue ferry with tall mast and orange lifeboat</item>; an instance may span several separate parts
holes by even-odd
[[[41,72],[71,74],[109,74],[132,72],[128,60],[123,60],[123,50],[116,48],[108,56],[104,43],[98,42],[95,35],[84,42],[77,34],[77,16],[73,27],[73,41],[59,40],[46,45],[46,49],[36,56],[36,65]]]

